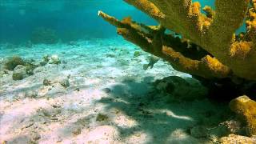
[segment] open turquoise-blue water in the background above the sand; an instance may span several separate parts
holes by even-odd
[[[202,7],[214,6],[214,1],[200,2]],[[62,42],[116,37],[114,26],[99,18],[98,10],[116,18],[131,16],[137,22],[157,24],[122,0],[1,0],[0,42],[27,41],[38,27],[56,30]]]

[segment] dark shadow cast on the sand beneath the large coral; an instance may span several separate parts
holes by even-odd
[[[122,138],[146,134],[146,143],[198,143],[205,138],[190,136],[190,128],[198,125],[218,126],[228,108],[208,99],[193,102],[170,101],[170,95],[150,88],[153,77],[142,82],[126,81],[110,87],[110,97],[98,102],[106,104],[106,111],[116,109],[137,122],[136,126],[114,124]]]

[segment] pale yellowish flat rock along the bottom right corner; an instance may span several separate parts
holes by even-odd
[[[241,143],[241,144],[255,144],[256,143],[256,137],[245,137],[242,135],[236,135],[236,134],[230,134],[227,137],[223,137],[219,139],[218,143],[222,144],[230,144],[230,143]]]

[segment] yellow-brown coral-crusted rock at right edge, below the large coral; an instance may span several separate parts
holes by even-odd
[[[241,96],[230,102],[230,110],[239,115],[242,122],[246,122],[246,133],[256,135],[256,102],[247,96]]]

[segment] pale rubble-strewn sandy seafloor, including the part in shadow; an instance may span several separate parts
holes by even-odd
[[[222,106],[208,99],[169,101],[152,94],[152,82],[189,74],[162,60],[143,70],[150,54],[134,58],[137,46],[122,38],[68,44],[0,47],[1,61],[12,55],[42,61],[58,54],[62,63],[47,64],[20,81],[0,79],[0,142],[7,143],[212,143],[187,131],[198,123],[218,123]],[[2,62],[1,62],[2,63]],[[59,84],[70,75],[70,86]],[[47,78],[52,86],[43,86]],[[110,90],[106,90],[109,88]],[[105,89],[105,90],[103,90]],[[35,97],[30,94],[37,93]],[[170,97],[170,96],[168,96]],[[209,111],[212,116],[206,116]],[[107,118],[97,119],[98,114]]]

